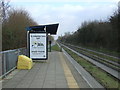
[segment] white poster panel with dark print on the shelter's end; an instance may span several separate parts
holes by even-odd
[[[30,58],[47,58],[46,33],[30,33]]]

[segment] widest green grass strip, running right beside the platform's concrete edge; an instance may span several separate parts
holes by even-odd
[[[79,57],[72,51],[64,48],[85,70],[87,70],[98,82],[100,82],[105,88],[119,88],[120,82],[109,75],[107,72],[88,62],[87,60]]]

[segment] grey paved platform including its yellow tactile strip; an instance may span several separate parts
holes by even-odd
[[[9,75],[2,86],[3,88],[79,88],[80,85],[77,84],[66,61],[68,60],[62,52],[50,52],[46,62],[36,62],[31,70],[15,70],[12,72],[14,76],[10,78]]]

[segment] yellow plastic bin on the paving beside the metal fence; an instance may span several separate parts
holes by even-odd
[[[31,58],[25,55],[18,56],[17,69],[31,69],[33,66],[33,61]]]

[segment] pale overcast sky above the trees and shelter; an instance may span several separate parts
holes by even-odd
[[[82,22],[107,20],[117,10],[119,0],[10,0],[14,8],[29,12],[39,24],[59,23],[57,38],[76,31]]]

